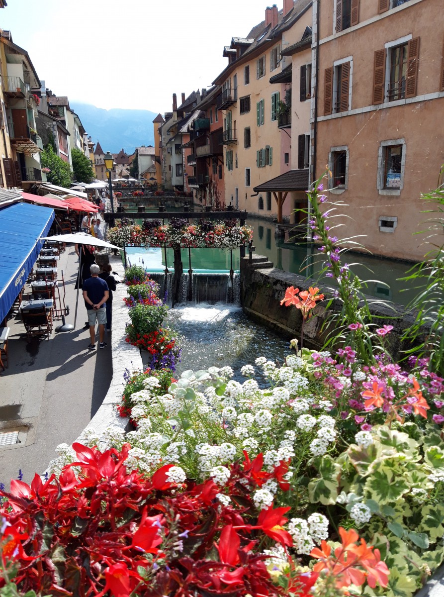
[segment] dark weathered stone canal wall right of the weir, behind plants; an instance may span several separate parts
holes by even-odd
[[[290,286],[299,290],[308,290],[316,286],[316,280],[306,278],[295,273],[283,272],[273,267],[267,257],[252,254],[252,258],[244,257],[240,260],[240,284],[242,309],[251,319],[277,331],[285,337],[301,337],[302,316],[299,309],[280,305],[285,291]],[[326,329],[326,300],[332,299],[329,310],[341,311],[341,302],[334,298],[333,288],[322,287],[325,300],[318,303],[313,310],[313,317],[304,325],[304,346],[320,349],[328,339],[329,330]],[[368,297],[369,302],[374,297]],[[410,347],[402,341],[403,332],[415,321],[412,313],[406,313],[401,305],[370,304],[377,327],[384,324],[393,325],[393,330],[386,336],[387,349],[395,360],[402,358],[404,350]],[[424,337],[427,330],[424,330]]]

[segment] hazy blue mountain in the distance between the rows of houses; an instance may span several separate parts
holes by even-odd
[[[149,110],[104,110],[76,101],[70,107],[82,121],[94,143],[100,141],[105,152],[118,153],[122,147],[132,153],[135,147],[154,145],[153,120],[157,112]]]

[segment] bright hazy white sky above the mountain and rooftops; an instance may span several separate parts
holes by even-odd
[[[224,45],[264,19],[268,0],[8,0],[0,27],[48,88],[110,109],[171,110],[209,87]],[[282,0],[277,2],[279,10]]]

